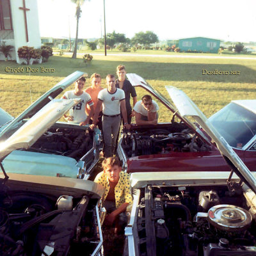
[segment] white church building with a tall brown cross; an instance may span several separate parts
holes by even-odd
[[[13,45],[11,60],[17,63],[19,47],[41,47],[36,0],[0,0],[0,45],[3,41]],[[4,60],[2,52],[0,60]]]

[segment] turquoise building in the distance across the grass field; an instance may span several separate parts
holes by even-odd
[[[179,48],[180,51],[185,52],[202,51],[218,53],[220,40],[205,37],[184,38],[179,40]]]

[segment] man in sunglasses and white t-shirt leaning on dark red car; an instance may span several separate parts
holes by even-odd
[[[135,121],[138,125],[157,125],[159,107],[150,95],[144,95],[133,107]]]

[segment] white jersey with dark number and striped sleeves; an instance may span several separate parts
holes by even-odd
[[[73,108],[70,108],[69,115],[73,116],[74,118],[72,123],[80,124],[81,122],[84,122],[87,118],[87,115],[85,113],[86,104],[88,104],[89,106],[93,105],[91,96],[86,92],[83,92],[81,95],[77,96],[75,95],[74,91],[68,91],[64,93],[63,98],[64,99],[77,99],[77,98],[82,99],[80,103],[78,103]]]

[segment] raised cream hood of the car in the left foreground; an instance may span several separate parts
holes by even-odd
[[[13,150],[29,148],[49,127],[57,122],[72,106],[81,99],[52,99],[10,136],[0,143],[0,162]]]

